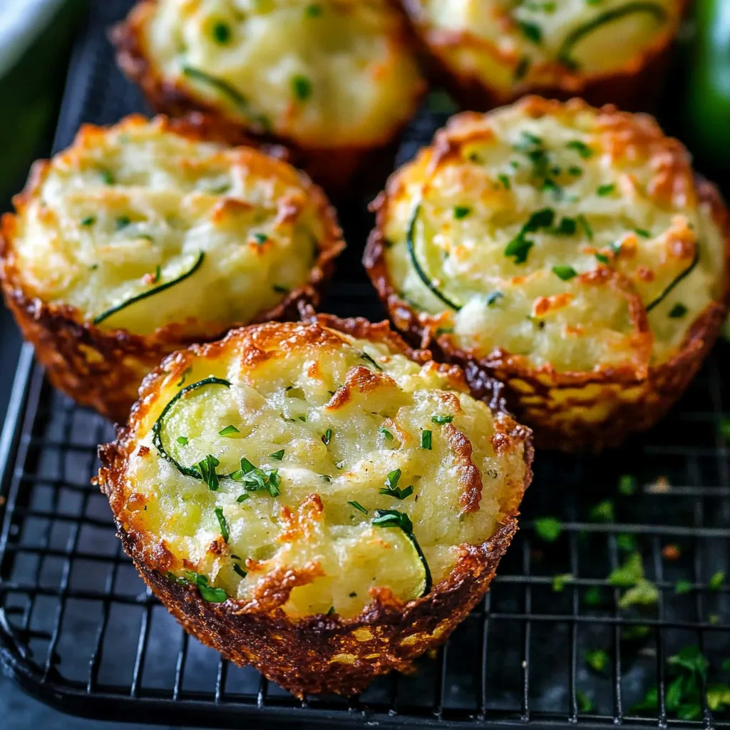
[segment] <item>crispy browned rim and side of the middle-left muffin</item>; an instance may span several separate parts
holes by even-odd
[[[136,119],[142,117],[130,115],[120,123]],[[204,120],[163,118],[163,123],[166,130],[189,139],[223,141],[211,133]],[[282,156],[283,150],[268,149],[275,156]],[[137,400],[142,377],[157,366],[161,358],[193,341],[218,339],[228,329],[247,322],[221,323],[210,328],[204,336],[196,337],[185,336],[175,325],[159,328],[149,336],[133,334],[125,329],[102,331],[91,321],[84,320],[75,307],[49,304],[28,292],[13,256],[15,226],[28,201],[39,191],[49,166],[50,161],[47,160],[34,164],[26,188],[13,198],[15,214],[7,213],[1,218],[0,285],[23,337],[34,345],[36,356],[45,366],[51,383],[78,403],[124,423],[131,405]],[[312,266],[308,282],[289,292],[272,309],[259,312],[253,322],[296,319],[300,301],[317,304],[320,288],[334,271],[334,259],[345,247],[337,214],[325,194],[306,175],[298,174],[325,223],[326,234],[318,243],[318,259]]]

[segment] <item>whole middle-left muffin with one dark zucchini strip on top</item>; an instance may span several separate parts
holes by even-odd
[[[120,422],[164,355],[296,318],[344,247],[304,174],[166,118],[83,127],[14,203],[8,307],[52,383]]]

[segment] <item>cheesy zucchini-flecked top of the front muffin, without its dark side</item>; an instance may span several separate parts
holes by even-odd
[[[405,352],[267,323],[168,358],[133,414],[115,515],[209,601],[284,591],[291,617],[352,616],[377,591],[428,593],[514,513],[529,447],[460,369]]]

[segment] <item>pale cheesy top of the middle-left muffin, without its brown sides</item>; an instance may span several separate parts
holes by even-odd
[[[26,294],[139,335],[246,323],[342,247],[323,193],[291,166],[164,118],[82,128],[16,204],[8,255]]]

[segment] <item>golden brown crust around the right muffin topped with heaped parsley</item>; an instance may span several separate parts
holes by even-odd
[[[524,99],[520,104],[531,114],[549,113],[561,106],[558,101],[537,97]],[[577,99],[570,101],[569,106],[586,107],[585,102]],[[650,364],[652,345],[647,314],[639,297],[628,290],[626,296],[635,332],[634,361],[623,366],[602,366],[591,372],[556,372],[549,364],[535,368],[528,358],[504,350],[477,356],[453,345],[448,335],[437,334],[442,315],[418,312],[401,299],[385,263],[388,203],[399,193],[401,185],[397,172],[388,180],[385,192],[372,204],[376,223],[363,259],[396,328],[412,342],[419,342],[420,347],[431,347],[437,360],[460,365],[475,393],[483,387],[485,379],[499,380],[504,384],[504,391],[496,393],[496,397],[504,396],[507,407],[518,420],[534,429],[537,447],[568,452],[616,447],[629,434],[645,431],[657,423],[702,365],[721,332],[730,306],[730,216],[717,188],[706,180],[693,179],[682,145],[675,139],[657,137],[661,136],[661,130],[650,118],[642,115],[632,118],[607,106],[601,110],[599,119],[605,128],[619,132],[617,143],[650,145],[657,173],[654,195],[669,198],[695,194],[702,204],[710,207],[712,220],[723,231],[726,241],[728,263],[721,294],[696,318],[677,354],[669,361],[658,366]],[[435,147],[438,154],[448,155],[453,153],[451,145],[447,127],[437,137]],[[613,152],[620,154],[621,150]],[[690,186],[694,191],[688,189]],[[622,289],[622,277],[607,266],[599,266],[585,276],[612,277],[612,283]],[[493,399],[494,391],[488,391],[486,397]]]

